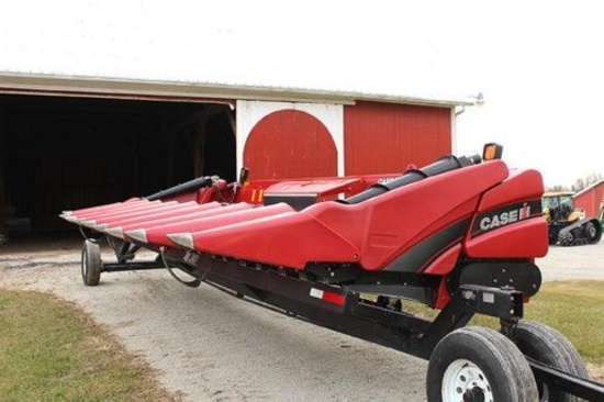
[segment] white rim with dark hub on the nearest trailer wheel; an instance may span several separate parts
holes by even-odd
[[[443,401],[493,401],[493,391],[482,370],[467,359],[452,361],[443,376]]]

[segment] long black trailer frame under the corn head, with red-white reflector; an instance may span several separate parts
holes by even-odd
[[[89,247],[100,248],[99,242],[85,239],[82,276]],[[132,247],[141,248],[128,243],[128,247],[121,249]],[[204,282],[233,297],[248,299],[256,305],[426,360],[430,359],[434,348],[447,334],[466,326],[476,314],[499,317],[500,332],[511,336],[524,312],[523,293],[518,290],[460,284],[447,305],[430,321],[402,309],[379,305],[363,299],[359,292],[343,287],[306,280],[279,267],[164,247],[154,260],[133,261],[124,260],[119,249],[113,250],[119,261],[104,263],[99,257],[89,264],[89,269],[98,271],[99,276],[101,272],[168,269],[183,284],[197,288]],[[182,280],[175,276],[175,269],[194,279]],[[536,380],[550,390],[593,402],[604,399],[604,384],[559,370],[526,355],[525,358]]]

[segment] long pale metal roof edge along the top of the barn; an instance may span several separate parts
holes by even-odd
[[[201,99],[242,99],[266,101],[302,101],[313,103],[354,104],[356,101],[418,104],[454,108],[473,105],[470,100],[432,99],[355,91],[307,88],[225,85],[199,81],[160,81],[116,79],[110,77],[24,74],[0,71],[0,90],[52,90],[76,94],[165,96]]]

